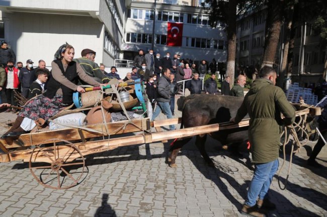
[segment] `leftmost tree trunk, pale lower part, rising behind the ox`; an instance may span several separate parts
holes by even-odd
[[[227,69],[226,75],[230,76],[229,88],[234,84],[235,57],[236,57],[236,9],[237,0],[229,0],[227,14]]]

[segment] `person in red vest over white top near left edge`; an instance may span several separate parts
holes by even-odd
[[[7,84],[6,84],[6,95],[7,95],[7,102],[16,106],[17,102],[14,97],[14,90],[19,86],[19,69],[14,66],[14,61],[9,60],[7,62],[7,67],[5,68],[7,73]],[[6,112],[12,111],[11,108],[8,108]],[[16,109],[13,110],[13,113],[16,112]]]

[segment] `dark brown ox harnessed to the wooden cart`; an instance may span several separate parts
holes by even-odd
[[[237,109],[240,107],[243,97],[220,96],[220,95],[190,95],[181,97],[177,101],[178,110],[182,111],[181,128],[196,127],[207,124],[228,122],[231,117],[235,117]],[[248,139],[248,127],[220,130],[209,135],[217,139],[221,144],[242,143]],[[176,157],[184,144],[192,137],[177,139],[171,146],[169,157],[170,166],[176,167]],[[200,150],[204,160],[214,166],[205,150],[206,134],[196,136],[195,144]]]

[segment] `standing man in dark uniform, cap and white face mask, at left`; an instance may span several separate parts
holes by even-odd
[[[31,59],[26,61],[26,67],[19,73],[19,82],[22,83],[22,95],[27,98],[30,90],[31,81],[35,77],[33,72],[33,61]],[[33,77],[33,78],[32,78]]]

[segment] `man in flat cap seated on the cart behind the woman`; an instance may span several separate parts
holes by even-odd
[[[94,59],[96,57],[96,52],[91,49],[84,49],[81,51],[80,55],[81,58],[74,59],[73,61],[76,61],[79,63],[81,68],[84,69],[85,73],[91,77],[93,77],[96,81],[100,83],[107,83],[109,82],[109,79],[105,77],[104,73],[101,71],[99,65],[94,62]],[[83,84],[86,85],[87,83],[79,80],[79,85]]]

